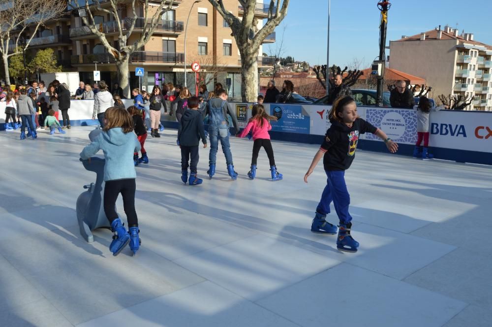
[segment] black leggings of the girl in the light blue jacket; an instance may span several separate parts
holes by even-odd
[[[104,213],[110,223],[118,217],[116,199],[121,193],[123,209],[128,220],[128,227],[138,226],[137,212],[135,211],[135,178],[107,181],[104,186]]]

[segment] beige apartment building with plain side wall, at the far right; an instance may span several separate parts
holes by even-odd
[[[475,97],[465,110],[492,111],[492,46],[445,26],[390,41],[389,66],[427,80],[431,96]]]

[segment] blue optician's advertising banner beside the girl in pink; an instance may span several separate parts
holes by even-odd
[[[310,117],[302,105],[271,104],[270,114],[278,119],[272,122],[273,131],[309,134]]]

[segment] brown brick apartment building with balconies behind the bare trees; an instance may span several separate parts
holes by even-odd
[[[123,3],[124,1],[122,1]],[[195,88],[195,74],[190,65],[200,63],[201,78],[212,87],[214,74],[216,80],[227,86],[229,95],[241,97],[241,57],[231,30],[222,16],[207,0],[193,5],[192,0],[175,0],[173,9],[162,15],[159,25],[150,41],[139,51],[132,54],[129,65],[130,87],[138,87],[141,82],[143,89],[152,89],[154,85],[172,82],[184,83],[184,35],[186,20],[189,23],[186,33],[186,64],[187,84],[191,90]],[[79,0],[82,5],[84,0]],[[101,7],[110,6],[109,1],[100,1]],[[243,8],[237,0],[224,0],[226,9],[238,15],[243,14]],[[112,15],[97,11],[92,5],[92,15],[99,30],[115,47],[118,46],[117,22]],[[140,37],[145,30],[143,6],[137,8],[137,19],[134,32],[128,43]],[[131,24],[131,6],[122,6],[120,10],[121,25],[127,29]],[[255,16],[258,18],[258,28],[263,26],[263,19],[268,16],[268,5],[258,2]],[[269,35],[264,43],[275,42],[275,33]],[[50,21],[39,30],[31,42],[31,50],[36,47],[51,47],[59,63],[67,71],[78,71],[81,79],[92,82],[93,74],[101,72],[101,79],[109,83],[117,82],[116,66],[111,55],[106,53],[104,46],[97,36],[93,35],[84,25],[78,10],[72,10],[69,15],[56,21]],[[272,58],[262,57],[260,48],[258,66],[270,65]],[[144,67],[145,75],[142,80],[135,76],[135,67]]]

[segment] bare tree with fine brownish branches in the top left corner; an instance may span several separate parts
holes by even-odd
[[[10,84],[8,58],[25,51],[40,26],[65,12],[64,1],[0,0],[0,53],[7,84]]]

